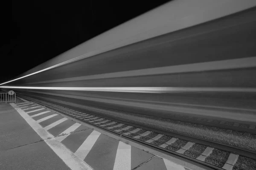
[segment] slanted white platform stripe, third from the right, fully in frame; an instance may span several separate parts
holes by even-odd
[[[96,140],[99,138],[101,133],[93,130],[93,132],[85,139],[85,141],[81,144],[81,146],[76,150],[75,155],[84,160],[87,154],[92,149],[93,145],[95,144]]]

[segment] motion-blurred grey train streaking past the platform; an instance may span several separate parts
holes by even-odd
[[[255,113],[255,75],[255,0],[172,0],[1,88],[138,114],[198,114],[195,107]]]

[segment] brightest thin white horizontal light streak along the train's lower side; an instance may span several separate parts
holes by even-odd
[[[175,93],[175,92],[246,92],[255,93],[256,88],[186,88],[186,87],[22,87],[0,86],[12,89],[67,90],[67,91],[108,91],[128,93]]]

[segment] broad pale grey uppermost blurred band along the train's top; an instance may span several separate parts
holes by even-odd
[[[127,23],[123,23],[122,25],[107,31],[106,33],[99,35],[97,37],[94,37],[93,39],[87,41],[87,43],[89,44],[88,45],[89,47],[90,47],[90,43],[93,44],[93,46],[95,46],[95,44],[98,44],[100,42],[99,44],[101,44],[101,46],[98,46],[97,48],[93,49],[93,51],[87,52],[78,57],[74,57],[73,59],[69,59],[67,61],[58,63],[56,65],[50,66],[40,71],[36,71],[32,74],[28,74],[26,76],[13,79],[8,82],[4,82],[0,85],[4,85],[6,83],[13,82],[18,79],[29,77],[31,75],[38,74],[42,71],[46,71],[70,62],[78,61],[79,59],[84,59],[87,57],[94,56],[96,54],[101,54],[106,51],[111,51],[113,49],[120,48],[125,45],[130,45],[132,43],[147,40],[147,39],[164,35],[170,32],[174,32],[183,28],[188,28],[201,23],[205,23],[210,20],[215,20],[219,17],[224,17],[227,15],[236,13],[238,11],[243,11],[245,9],[252,8],[256,5],[255,0],[243,0],[243,1],[246,1],[247,3],[242,3],[242,4],[240,3],[240,0],[226,0],[224,3],[208,2],[208,4],[200,3],[200,1],[198,2],[197,1],[198,0],[195,0],[195,2],[194,1],[186,2],[185,6],[182,6],[182,5],[180,6],[180,3],[177,3],[177,2],[166,3],[164,6],[153,9],[152,11],[149,11],[141,15],[140,17],[136,17],[135,19],[130,20]],[[201,1],[203,2],[204,0],[201,0]],[[186,8],[186,6],[188,6],[187,3],[191,3],[191,4],[199,3],[200,5],[204,4],[203,5],[204,10],[207,11],[207,13],[204,10],[198,10],[199,8],[201,9],[202,7],[202,6],[198,6],[197,8],[194,8],[194,7],[189,8],[189,10],[186,10],[186,12],[182,12],[179,14],[178,12],[179,10],[177,10],[177,8],[184,8],[184,7]],[[173,10],[170,10],[170,9],[173,9]],[[216,9],[218,9],[219,11],[218,13],[215,12]],[[151,16],[151,17],[148,17],[148,16]],[[170,16],[172,19],[170,19]],[[155,18],[154,21],[157,21],[157,23],[151,22],[151,20],[149,22],[148,18],[152,18],[152,17]],[[188,20],[188,18],[190,19]],[[140,23],[140,25],[138,25],[138,23]],[[136,30],[135,34],[133,32],[130,32],[131,30]],[[113,35],[118,35],[117,37],[119,38],[116,39],[116,37]],[[114,41],[111,41],[110,39],[113,39]],[[73,51],[74,50],[76,49],[73,49]],[[64,57],[66,56],[64,55]]]

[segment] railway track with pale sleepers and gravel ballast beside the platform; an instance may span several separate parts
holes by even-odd
[[[253,170],[256,168],[254,167],[256,166],[256,152],[252,150],[138,125],[95,111],[84,111],[84,109],[79,111],[31,97],[25,99],[124,138],[149,145],[164,153],[175,154],[217,170]],[[245,160],[252,164],[244,164]]]

